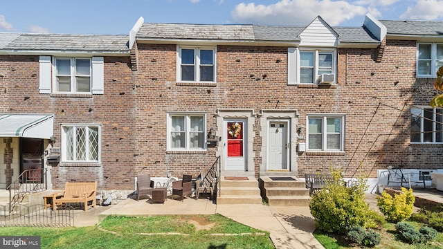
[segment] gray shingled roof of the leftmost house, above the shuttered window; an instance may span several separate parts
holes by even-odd
[[[127,35],[57,35],[0,33],[1,50],[63,50],[125,52]]]

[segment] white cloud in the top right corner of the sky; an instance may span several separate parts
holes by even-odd
[[[414,6],[408,7],[400,19],[435,20],[443,17],[443,3],[437,0],[418,0]]]

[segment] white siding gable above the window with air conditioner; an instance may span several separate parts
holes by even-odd
[[[334,47],[338,45],[338,39],[334,30],[318,18],[303,30],[300,38],[300,46]]]

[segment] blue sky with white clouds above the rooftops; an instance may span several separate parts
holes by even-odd
[[[13,0],[0,3],[0,33],[128,35],[145,23],[330,26],[379,20],[443,20],[443,0]]]

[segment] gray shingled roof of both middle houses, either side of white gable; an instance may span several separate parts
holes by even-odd
[[[305,26],[143,24],[137,39],[200,39],[298,42]],[[341,42],[379,42],[363,27],[333,27]]]

